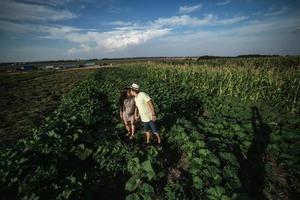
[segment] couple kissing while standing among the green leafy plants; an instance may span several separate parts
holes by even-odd
[[[160,136],[156,126],[156,114],[153,102],[148,94],[140,91],[140,87],[133,83],[125,88],[120,97],[120,117],[123,119],[128,136],[133,139],[135,134],[135,123],[141,118],[146,133],[146,143],[150,143],[151,132],[160,144]]]

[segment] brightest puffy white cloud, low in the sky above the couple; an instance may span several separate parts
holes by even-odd
[[[153,38],[168,34],[171,29],[147,27],[143,29],[113,30],[108,32],[87,31],[72,27],[44,27],[41,32],[47,35],[43,38],[65,39],[73,43],[80,43],[79,48],[71,48],[69,54],[90,52],[96,49],[102,51],[117,51],[132,45],[145,43]],[[91,47],[87,44],[95,44]]]

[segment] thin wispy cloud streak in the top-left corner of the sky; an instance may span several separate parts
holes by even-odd
[[[65,9],[56,9],[39,4],[2,0],[0,2],[0,19],[14,21],[59,21],[77,17]]]

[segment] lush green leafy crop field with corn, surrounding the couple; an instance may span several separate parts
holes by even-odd
[[[3,199],[299,199],[299,57],[135,63],[76,84],[0,151]],[[154,102],[161,147],[128,141],[124,86]]]

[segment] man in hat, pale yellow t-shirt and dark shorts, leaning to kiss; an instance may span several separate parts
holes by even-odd
[[[141,121],[146,132],[146,143],[150,143],[150,132],[157,138],[157,144],[160,144],[160,136],[156,127],[156,114],[151,98],[145,92],[140,92],[140,87],[133,83],[130,87],[130,93],[134,96],[135,105],[138,108]]]

